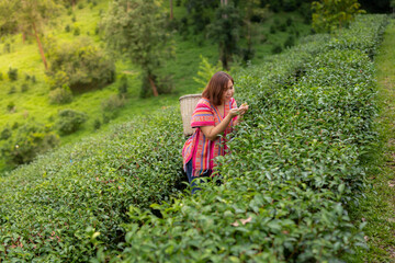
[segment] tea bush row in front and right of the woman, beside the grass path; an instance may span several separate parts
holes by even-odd
[[[358,33],[380,39],[386,18],[357,23],[317,43],[316,56],[297,56],[305,66],[293,75],[268,81],[262,76],[278,68],[266,65],[237,76],[238,99],[253,107],[229,142],[232,155],[217,158],[224,184],[153,205],[159,217],[132,206],[125,241],[110,252],[101,247],[95,261],[336,262],[364,247],[346,207],[363,187],[362,157],[376,139],[369,55],[379,43],[362,43]],[[285,64],[300,65],[292,59]],[[276,80],[284,84],[274,89]]]

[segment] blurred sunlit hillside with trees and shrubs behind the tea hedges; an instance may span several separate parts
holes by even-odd
[[[348,14],[337,24],[339,11],[320,13],[332,2],[0,0],[0,171],[174,105],[219,69],[232,73],[347,26]],[[356,13],[395,5],[342,2]],[[329,27],[319,24],[325,15],[336,21]]]

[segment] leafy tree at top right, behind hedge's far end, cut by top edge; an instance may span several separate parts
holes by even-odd
[[[313,28],[316,32],[331,32],[346,26],[358,13],[361,4],[358,0],[320,0],[312,3]]]

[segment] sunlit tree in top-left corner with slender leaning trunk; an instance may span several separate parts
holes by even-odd
[[[13,22],[20,32],[35,37],[46,70],[48,65],[40,35],[45,22],[54,18],[59,8],[53,0],[0,0],[0,10],[3,10],[0,12],[0,21]]]

